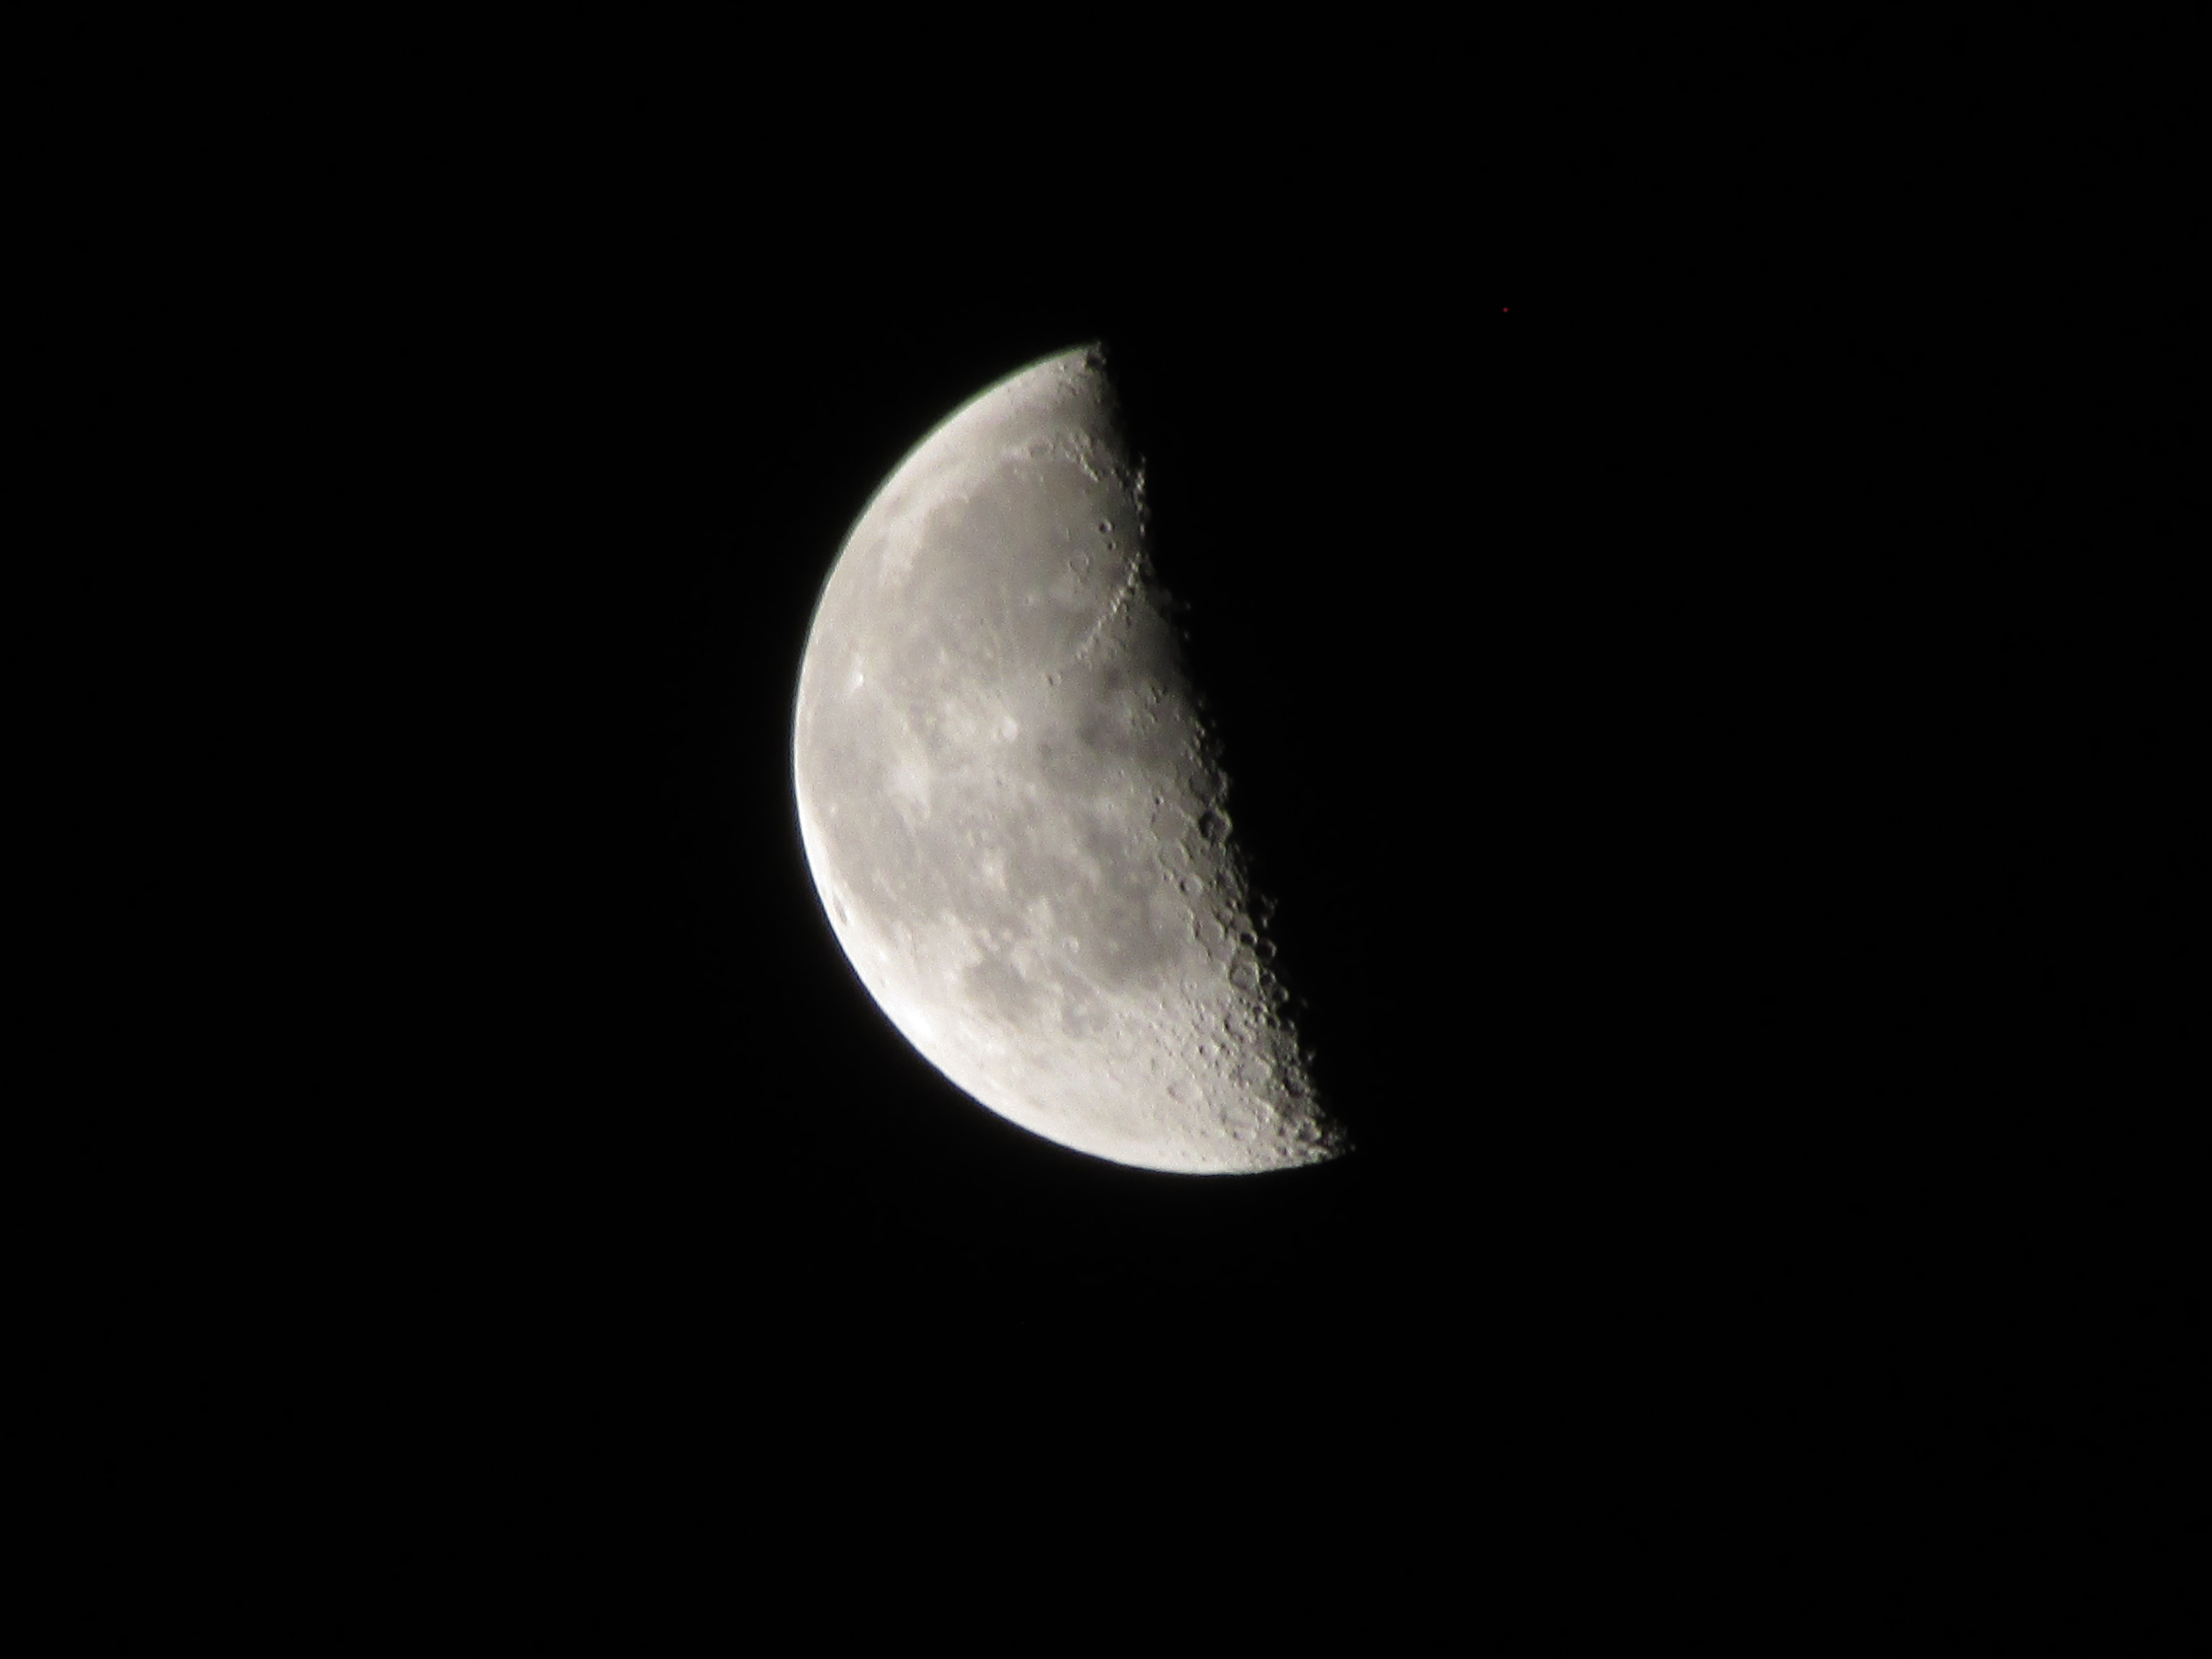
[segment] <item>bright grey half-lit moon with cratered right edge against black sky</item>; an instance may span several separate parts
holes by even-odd
[[[860,513],[807,635],[807,867],[883,1013],[993,1113],[1148,1170],[1318,1164],[1349,1141],[1146,538],[1099,347],[938,425]]]

